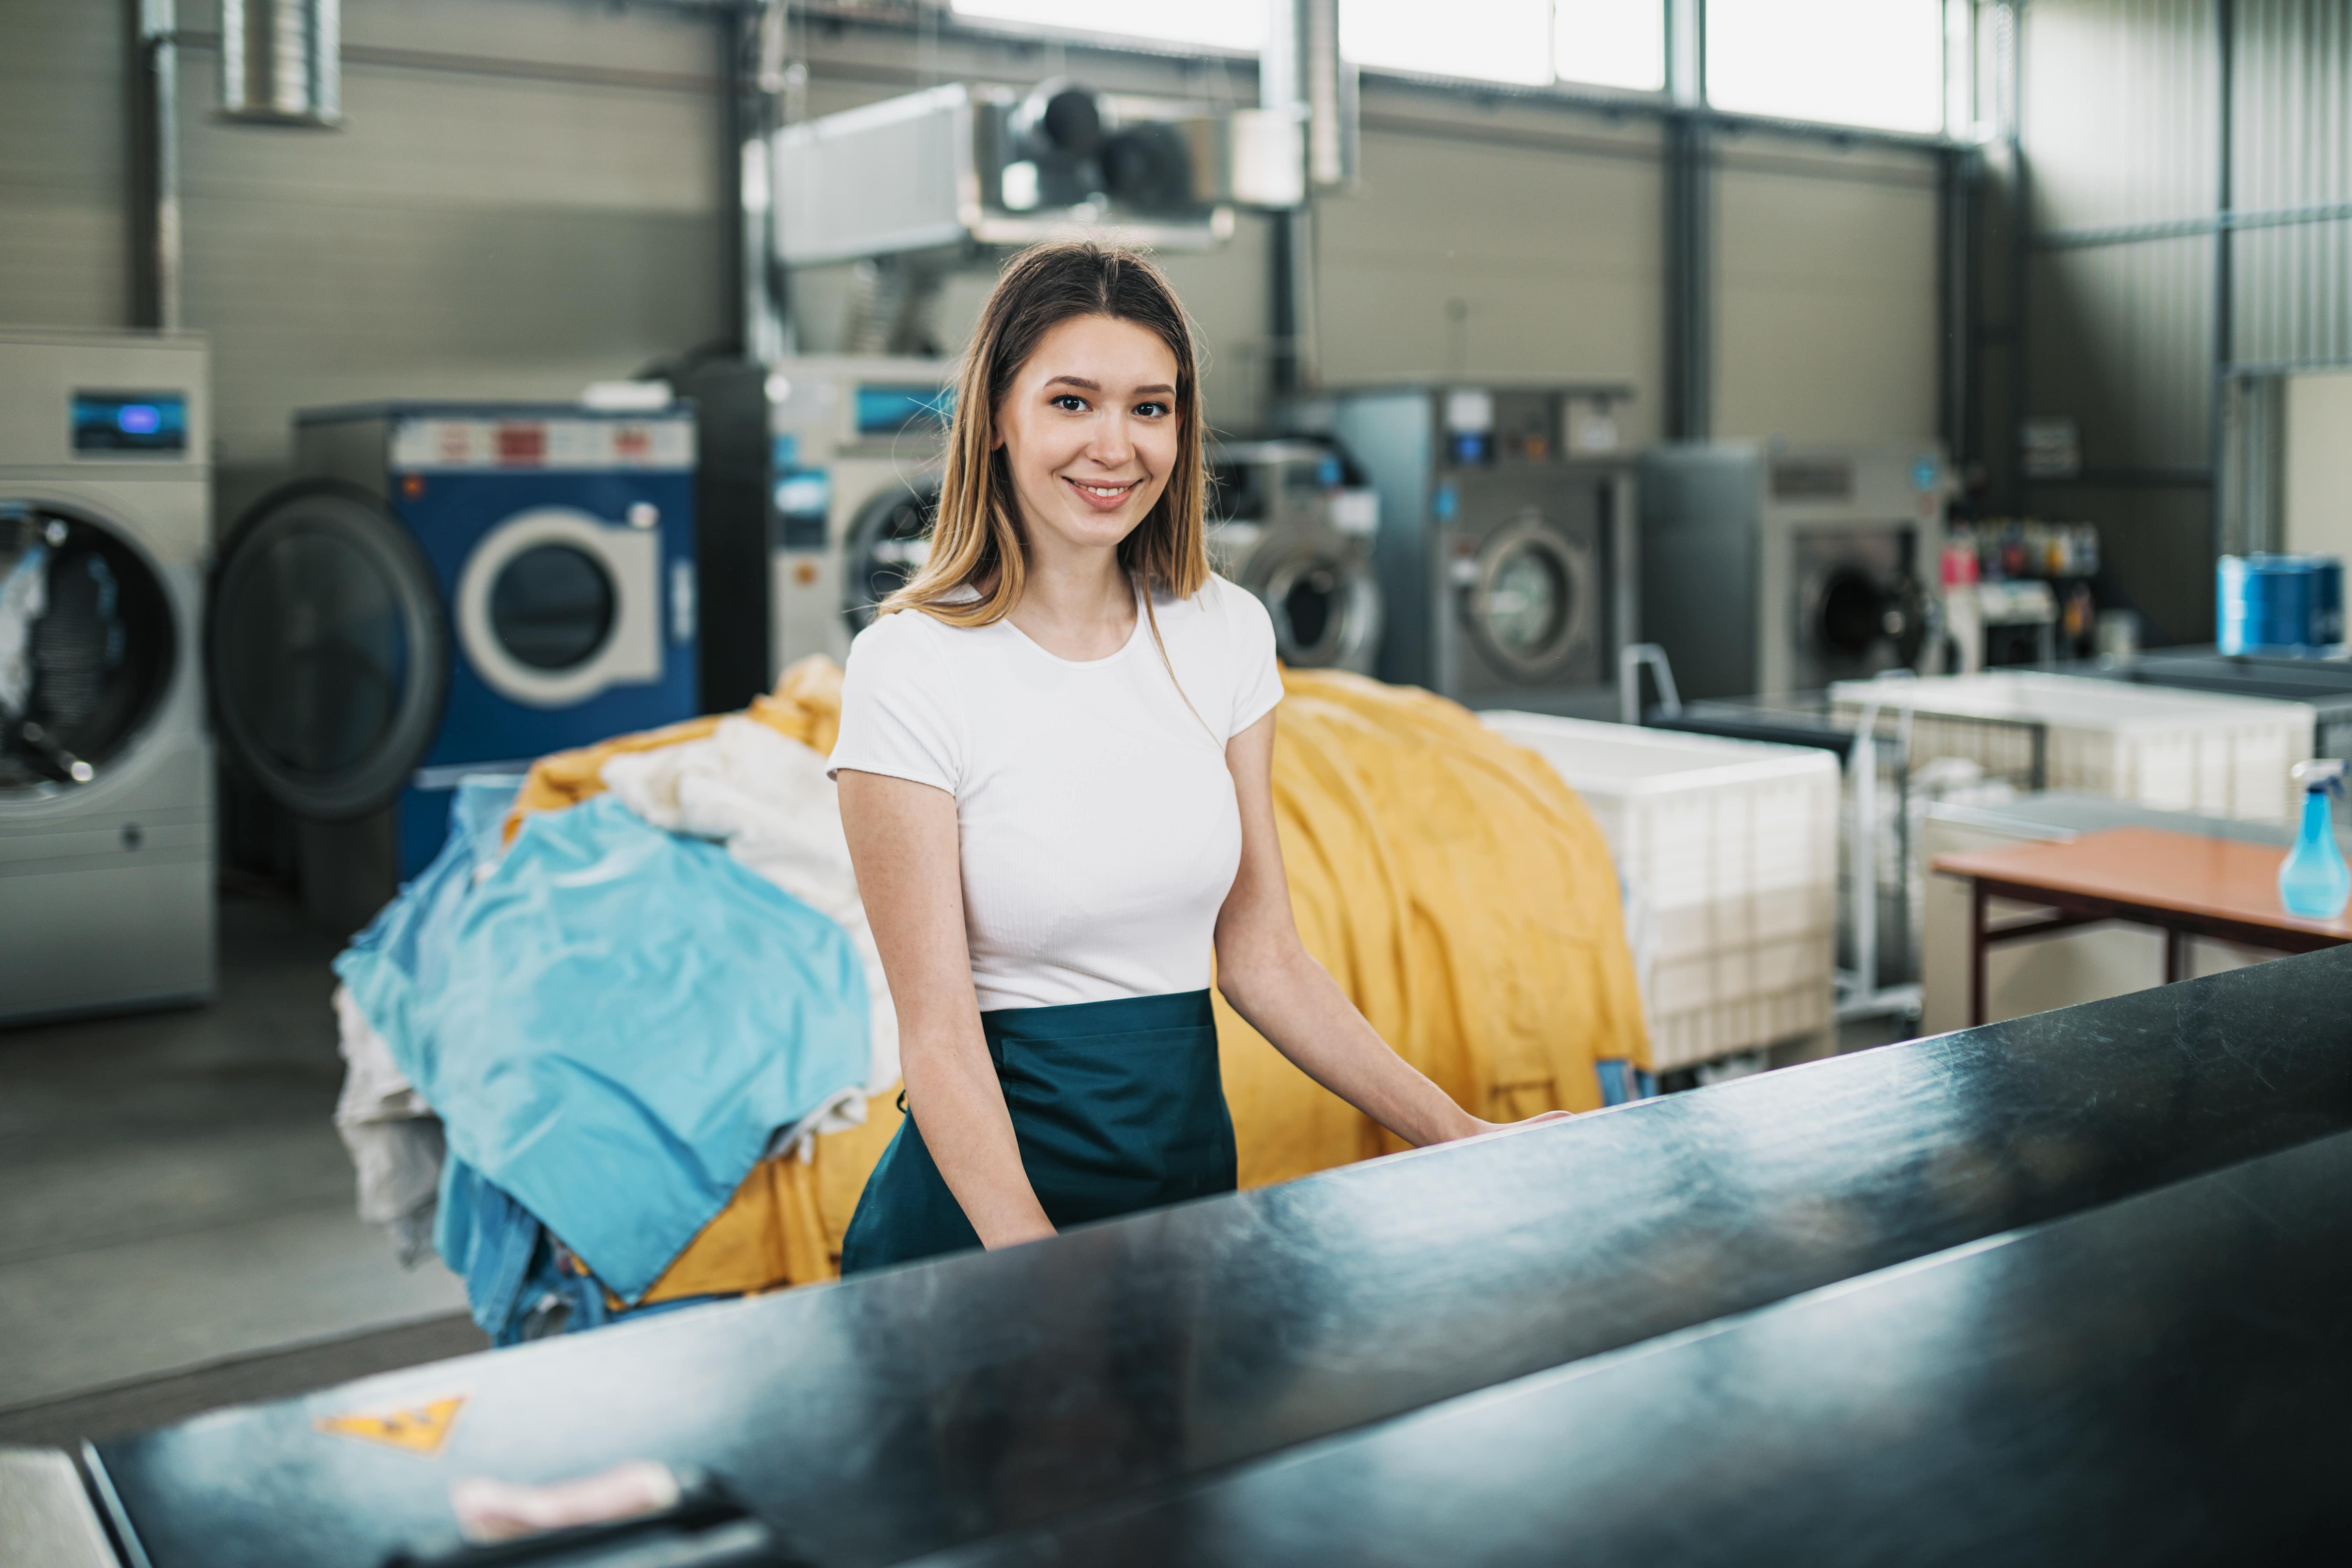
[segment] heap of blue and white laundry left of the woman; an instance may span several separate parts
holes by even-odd
[[[430,1241],[499,1342],[739,1293],[654,1286],[755,1166],[896,1086],[823,755],[706,729],[513,835],[520,780],[466,780],[442,853],[336,959],[360,1215],[409,1260]]]

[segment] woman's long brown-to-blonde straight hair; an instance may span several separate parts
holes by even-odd
[[[877,616],[920,609],[948,625],[993,625],[1021,602],[1028,576],[1021,503],[1007,454],[997,447],[997,407],[1044,334],[1082,315],[1136,322],[1176,357],[1176,468],[1152,510],[1120,541],[1120,567],[1141,583],[1145,614],[1155,590],[1190,599],[1209,583],[1192,324],[1176,303],[1176,289],[1150,261],[1115,244],[1065,240],[1021,252],[997,277],[955,378],[948,473],[938,484],[931,555],[880,604]],[[978,597],[962,597],[967,588]],[[1157,635],[1160,623],[1152,618],[1152,637]]]

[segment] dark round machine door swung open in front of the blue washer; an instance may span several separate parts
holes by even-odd
[[[205,623],[216,729],[287,809],[388,806],[449,696],[433,567],[374,498],[329,482],[266,496],[230,534]]]

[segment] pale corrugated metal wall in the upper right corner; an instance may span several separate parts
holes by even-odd
[[[2032,0],[2023,141],[2034,228],[2023,411],[2074,418],[2084,456],[2079,480],[2037,482],[2025,503],[2098,522],[2147,630],[2204,642],[2218,355],[2352,362],[2352,7]]]

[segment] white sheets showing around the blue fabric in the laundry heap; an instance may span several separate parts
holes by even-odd
[[[746,870],[849,933],[866,969],[870,1001],[868,1072],[861,1088],[844,1088],[795,1126],[781,1128],[769,1145],[769,1157],[793,1150],[809,1159],[818,1133],[863,1124],[866,1100],[898,1081],[898,1013],[866,924],[849,839],[842,835],[840,790],[826,778],[826,759],[767,724],[729,717],[706,741],[609,759],[604,785],[623,806],[666,832],[727,844],[727,853]],[[475,877],[489,870],[477,865]],[[442,1124],[343,987],[334,992],[334,1018],[346,1063],[334,1126],[360,1175],[360,1218],[390,1227],[400,1260],[414,1265],[433,1239]]]

